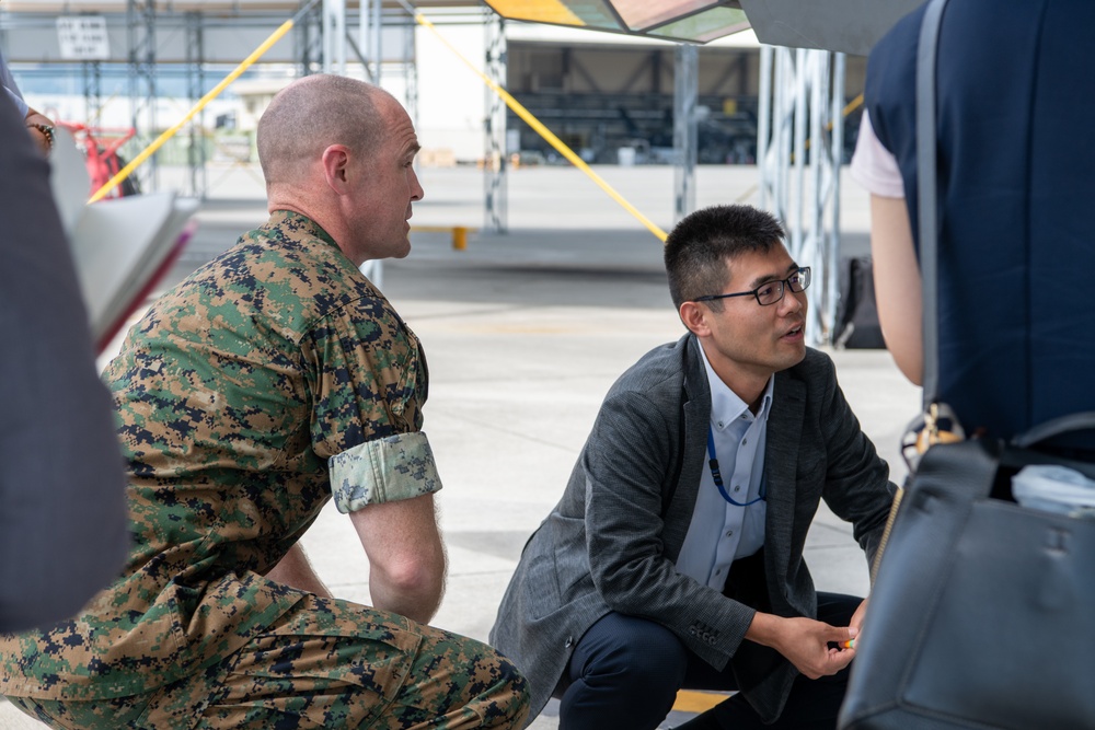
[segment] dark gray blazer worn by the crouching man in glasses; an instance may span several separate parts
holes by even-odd
[[[794,667],[742,641],[753,609],[675,565],[710,420],[711,392],[692,335],[645,355],[609,391],[563,498],[525,546],[491,630],[491,642],[529,679],[530,719],[551,697],[575,642],[610,611],[666,626],[715,669],[730,662],[760,716],[779,717]],[[799,364],[775,375],[764,470],[771,611],[816,617],[803,546],[819,500],[853,524],[869,560],[895,489],[821,352],[807,349]]]

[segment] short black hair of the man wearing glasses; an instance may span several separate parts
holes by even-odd
[[[669,296],[680,309],[698,297],[723,293],[729,281],[727,262],[750,252],[768,252],[786,237],[770,213],[752,206],[712,206],[696,210],[666,239]],[[712,309],[721,300],[710,302]]]

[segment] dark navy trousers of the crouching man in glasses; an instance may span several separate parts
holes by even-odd
[[[818,619],[848,626],[863,599],[818,593]],[[734,695],[680,726],[689,730],[833,730],[849,670],[809,680],[799,675],[780,719],[764,725]],[[563,677],[560,730],[654,730],[672,709],[677,691],[737,690],[729,665],[722,672],[684,648],[669,629],[610,613],[578,645]]]

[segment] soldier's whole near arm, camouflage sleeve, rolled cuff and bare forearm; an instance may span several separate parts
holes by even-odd
[[[441,480],[429,441],[418,430],[418,396],[400,396],[411,397],[400,416],[392,413],[397,398],[361,399],[348,427],[344,409],[328,407],[338,398],[328,397],[326,389],[343,390],[349,384],[353,390],[355,383],[364,383],[371,391],[391,376],[383,372],[388,366],[376,360],[372,348],[343,346],[344,341],[364,341],[374,322],[371,311],[344,308],[307,340],[303,357],[314,368],[312,432],[321,434],[313,450],[327,459],[335,507],[349,515],[369,560],[372,605],[425,624],[441,602],[446,563],[433,497]],[[399,324],[392,318],[385,326]],[[428,375],[425,362],[415,358],[417,340],[393,341],[390,347],[407,348],[408,369],[392,382],[415,382],[418,387],[420,380],[424,387]],[[415,362],[417,371],[410,369]],[[344,374],[323,378],[322,372]],[[362,431],[371,438],[357,442]]]

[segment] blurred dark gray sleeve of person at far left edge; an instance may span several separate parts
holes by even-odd
[[[24,114],[0,91],[0,631],[78,613],[129,546],[114,407]]]

